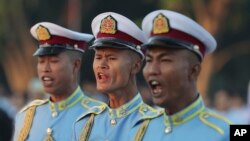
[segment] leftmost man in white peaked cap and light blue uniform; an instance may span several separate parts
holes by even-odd
[[[38,40],[37,71],[47,100],[35,100],[16,116],[15,141],[69,141],[76,118],[86,111],[78,85],[82,54],[92,35],[41,22],[31,28]]]

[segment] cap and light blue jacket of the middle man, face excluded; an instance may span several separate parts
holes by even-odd
[[[99,14],[92,21],[92,32],[96,39],[90,48],[128,49],[144,58],[140,45],[146,36],[128,18],[114,12]],[[74,125],[76,141],[140,140],[150,119],[159,116],[158,111],[143,103],[139,93],[116,109],[91,100],[83,105],[89,110]]]

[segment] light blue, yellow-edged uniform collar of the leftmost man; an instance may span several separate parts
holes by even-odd
[[[76,90],[67,99],[60,102],[49,101],[51,111],[62,111],[74,106],[78,101],[83,99],[83,92],[78,86]]]

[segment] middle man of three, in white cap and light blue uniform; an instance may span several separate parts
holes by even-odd
[[[92,21],[95,41],[93,69],[97,90],[109,103],[86,100],[90,108],[74,125],[77,141],[128,141],[140,139],[144,127],[159,113],[144,104],[136,86],[146,41],[143,32],[128,18],[113,12],[102,13]]]

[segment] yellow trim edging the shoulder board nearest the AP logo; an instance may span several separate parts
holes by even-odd
[[[199,118],[204,124],[206,124],[208,127],[212,128],[212,129],[214,129],[215,131],[219,132],[221,135],[224,134],[223,128],[219,127],[216,123],[211,122],[210,119],[215,118],[218,120],[218,122],[224,122],[228,125],[232,124],[232,122],[229,121],[228,119],[226,119],[218,114],[215,114],[213,112],[208,112],[208,111],[201,112],[199,114]]]

